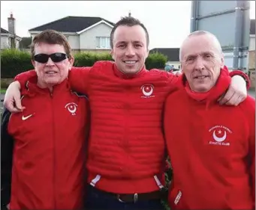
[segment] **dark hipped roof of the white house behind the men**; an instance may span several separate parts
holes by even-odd
[[[101,17],[93,17],[93,16],[66,16],[62,19],[57,19],[56,21],[49,22],[47,24],[29,29],[29,31],[44,31],[47,29],[53,29],[56,31],[62,32],[77,32],[82,31],[85,28],[88,28],[94,25],[97,22],[104,20],[110,25],[114,25],[113,22],[108,21],[107,19],[103,19]]]

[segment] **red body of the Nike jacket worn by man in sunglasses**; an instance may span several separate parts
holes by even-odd
[[[14,139],[11,209],[82,209],[86,101],[66,80],[53,93],[27,83],[26,109],[8,123]]]

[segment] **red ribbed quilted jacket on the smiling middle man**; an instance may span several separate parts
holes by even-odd
[[[21,84],[24,74],[16,78]],[[162,111],[177,78],[145,67],[137,74],[125,75],[110,61],[71,70],[71,87],[90,99],[86,167],[91,185],[116,194],[158,191],[164,185]]]

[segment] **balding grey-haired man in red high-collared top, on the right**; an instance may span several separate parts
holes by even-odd
[[[173,167],[171,209],[254,209],[255,100],[217,100],[230,85],[221,45],[206,31],[180,48],[184,74],[167,97],[164,133]]]

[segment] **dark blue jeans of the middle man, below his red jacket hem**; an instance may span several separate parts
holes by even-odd
[[[122,203],[113,194],[86,187],[86,210],[164,210],[161,200],[137,200],[136,203]]]

